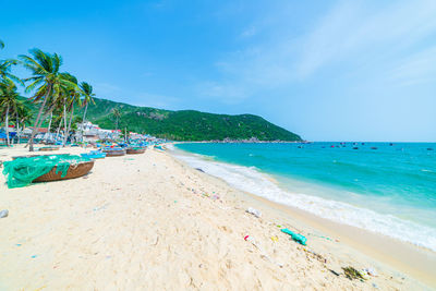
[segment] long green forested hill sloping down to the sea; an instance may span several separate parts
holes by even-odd
[[[121,111],[119,128],[147,133],[173,141],[301,141],[292,132],[279,128],[265,119],[252,116],[213,114],[194,110],[171,111],[150,107],[137,107],[107,99],[95,98],[88,106],[87,120],[101,129],[114,129],[112,109]],[[81,114],[83,111],[77,112]]]

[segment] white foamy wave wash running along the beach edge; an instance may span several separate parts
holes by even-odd
[[[173,149],[173,148],[172,148]],[[215,161],[211,157],[172,151],[193,168],[225,180],[231,186],[267,198],[271,202],[300,208],[339,223],[382,233],[436,252],[436,230],[407,221],[392,215],[382,215],[371,209],[326,199],[304,193],[291,193],[274,183],[255,167],[243,167]]]

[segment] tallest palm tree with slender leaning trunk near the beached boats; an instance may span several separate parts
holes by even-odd
[[[27,85],[26,92],[36,89],[33,101],[40,102],[39,111],[35,119],[29,140],[29,151],[33,151],[34,137],[38,131],[39,124],[45,119],[41,119],[41,114],[46,108],[47,101],[51,99],[51,104],[56,104],[62,87],[76,85],[71,83],[62,73],[59,72],[59,69],[62,65],[62,58],[59,54],[50,54],[41,51],[40,49],[31,49],[29,53],[31,57],[21,54],[19,58],[24,68],[29,70],[33,74],[32,77],[24,80],[25,82],[32,82],[29,85]],[[52,111],[53,108],[55,107],[51,107],[49,111]]]

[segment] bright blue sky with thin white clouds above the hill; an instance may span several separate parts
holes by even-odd
[[[254,113],[311,141],[436,141],[436,1],[7,1],[0,58],[98,97]],[[25,75],[25,72],[17,72]]]

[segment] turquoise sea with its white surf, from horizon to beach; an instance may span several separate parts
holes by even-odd
[[[436,251],[436,144],[185,143],[174,155],[240,190]]]

